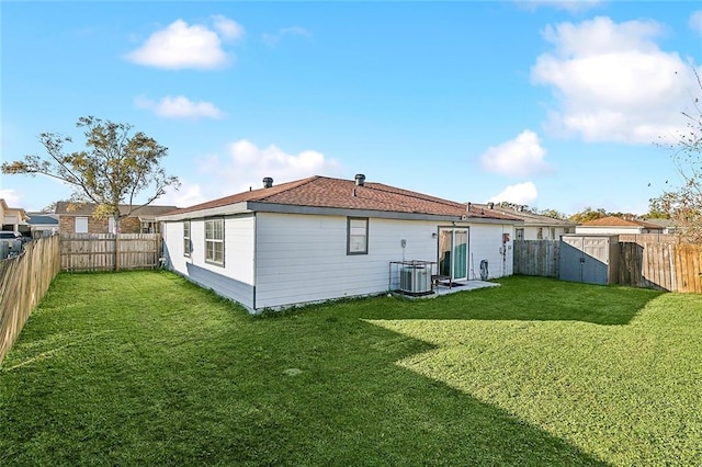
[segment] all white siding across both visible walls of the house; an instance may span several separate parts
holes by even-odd
[[[170,267],[250,310],[381,294],[390,262],[438,260],[439,227],[445,223],[370,218],[369,254],[347,254],[347,217],[257,213],[225,219],[225,264],[204,261],[204,219],[191,220],[191,257],[183,257],[183,223],[166,223]],[[468,229],[468,278],[512,274],[513,226],[462,223]],[[502,234],[509,234],[502,257]],[[406,240],[403,249],[401,240]]]

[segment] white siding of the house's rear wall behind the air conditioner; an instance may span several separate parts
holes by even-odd
[[[371,218],[369,254],[348,255],[344,216],[259,213],[256,308],[386,292],[392,261],[437,261],[438,239],[432,234],[440,225]],[[511,225],[463,227],[468,227],[468,278],[480,278],[483,259],[488,260],[490,278],[512,274]],[[502,234],[510,234],[505,262]]]

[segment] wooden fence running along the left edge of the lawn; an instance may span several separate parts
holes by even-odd
[[[0,363],[58,271],[58,236],[31,241],[21,255],[0,261]]]

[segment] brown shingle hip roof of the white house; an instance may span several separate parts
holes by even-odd
[[[382,183],[310,176],[270,187],[251,190],[169,213],[171,219],[185,218],[189,213],[216,209],[245,203],[241,209],[264,210],[267,206],[304,206],[385,213],[485,218],[519,221],[513,216],[489,212],[449,200],[411,192]],[[163,218],[163,216],[161,216]]]

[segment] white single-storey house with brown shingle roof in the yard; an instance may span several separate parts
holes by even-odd
[[[509,232],[522,224],[362,174],[265,178],[158,219],[169,269],[252,312],[388,292],[393,262],[427,261],[450,281],[511,275]]]

